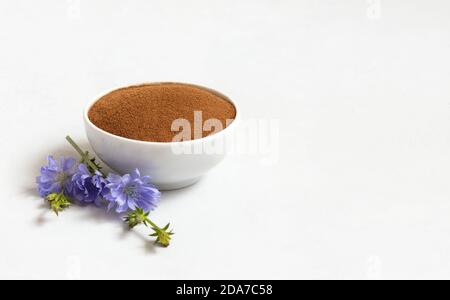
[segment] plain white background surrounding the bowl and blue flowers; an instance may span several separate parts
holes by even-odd
[[[0,3],[0,278],[450,278],[448,1]],[[279,160],[163,194],[176,235],[35,192],[99,93],[181,81],[278,119]]]

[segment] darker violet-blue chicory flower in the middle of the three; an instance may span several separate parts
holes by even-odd
[[[72,177],[73,190],[71,196],[83,204],[102,204],[103,197],[108,193],[107,181],[98,171],[92,175],[85,164],[78,166]]]

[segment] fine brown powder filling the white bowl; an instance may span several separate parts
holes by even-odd
[[[228,100],[208,90],[179,83],[145,84],[115,90],[100,98],[88,116],[97,127],[118,136],[171,142],[178,133],[171,130],[172,122],[177,119],[189,121],[191,138],[195,138],[195,111],[202,112],[203,122],[220,120],[223,128],[227,120],[236,116],[236,109]],[[209,134],[211,132],[202,131],[202,137]]]

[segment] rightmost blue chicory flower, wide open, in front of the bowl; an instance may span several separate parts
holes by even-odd
[[[161,193],[150,183],[150,177],[141,176],[137,169],[124,176],[111,173],[106,180],[106,187],[109,188],[109,193],[105,195],[109,202],[108,209],[116,207],[117,213],[137,208],[149,212],[156,208],[161,198]]]

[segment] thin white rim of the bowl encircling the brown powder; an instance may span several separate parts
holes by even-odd
[[[219,96],[221,98],[223,98],[224,100],[227,100],[228,102],[230,102],[236,111],[236,116],[234,117],[233,122],[231,122],[231,124],[229,124],[227,127],[225,127],[224,129],[222,129],[221,131],[212,134],[212,135],[208,135],[205,137],[202,137],[200,139],[193,139],[193,140],[189,140],[189,141],[180,141],[180,142],[151,142],[151,141],[142,141],[142,140],[135,140],[135,139],[130,139],[130,138],[126,138],[123,136],[119,136],[113,133],[110,133],[104,129],[101,129],[100,127],[98,127],[97,125],[95,125],[90,119],[89,119],[89,111],[91,110],[92,106],[97,103],[97,101],[99,101],[102,97],[108,95],[109,93],[112,93],[114,91],[117,90],[121,90],[121,89],[126,89],[126,88],[130,88],[130,87],[138,87],[138,86],[143,86],[143,85],[162,85],[162,84],[180,84],[180,85],[186,85],[186,86],[191,86],[191,87],[196,87],[196,88],[200,88],[203,89],[205,91],[208,91],[210,93],[213,93],[216,96]],[[200,142],[205,142],[207,140],[211,140],[214,138],[219,138],[220,136],[227,134],[228,132],[231,131],[232,128],[236,127],[236,123],[238,121],[240,117],[240,110],[239,107],[237,106],[236,102],[234,102],[233,100],[231,100],[228,96],[222,94],[221,92],[218,92],[214,89],[211,89],[209,87],[205,87],[202,85],[198,85],[198,84],[193,84],[193,83],[185,83],[185,82],[174,82],[174,81],[161,81],[161,82],[142,82],[142,83],[134,83],[134,84],[129,84],[129,85],[125,85],[125,86],[121,86],[118,88],[114,88],[112,90],[109,90],[107,92],[101,93],[100,96],[97,96],[94,98],[94,100],[91,100],[85,107],[84,112],[83,112],[83,118],[85,121],[85,124],[89,125],[90,127],[92,127],[93,129],[99,131],[102,134],[105,134],[107,136],[110,136],[112,138],[116,138],[118,140],[122,140],[124,142],[132,142],[132,143],[136,143],[136,144],[142,144],[142,145],[155,145],[155,146],[173,146],[173,145],[188,145],[188,144],[193,144],[193,143],[200,143]]]

